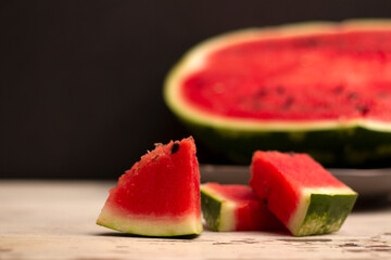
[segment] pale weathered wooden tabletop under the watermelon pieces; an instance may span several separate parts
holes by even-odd
[[[113,185],[0,180],[0,259],[391,259],[391,204],[354,211],[329,235],[204,231],[153,238],[94,224]]]

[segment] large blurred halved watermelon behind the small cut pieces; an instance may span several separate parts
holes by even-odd
[[[390,164],[391,23],[244,29],[193,48],[168,74],[168,107],[234,161],[256,150],[327,166]]]

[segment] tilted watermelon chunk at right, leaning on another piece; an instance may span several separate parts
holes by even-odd
[[[338,231],[357,198],[306,154],[255,152],[250,186],[295,236]]]

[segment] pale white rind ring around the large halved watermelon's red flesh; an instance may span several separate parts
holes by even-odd
[[[215,129],[229,129],[237,131],[298,131],[298,130],[328,130],[350,129],[362,127],[364,129],[391,132],[391,123],[365,118],[350,120],[257,120],[249,118],[229,118],[211,115],[185,102],[179,91],[184,79],[191,73],[199,70],[207,62],[207,56],[215,50],[229,44],[245,42],[251,39],[282,39],[291,36],[323,35],[336,31],[354,31],[357,29],[381,30],[390,29],[388,20],[346,21],[344,23],[311,22],[263,29],[250,28],[228,32],[206,40],[191,49],[181,61],[171,70],[164,88],[164,98],[167,105],[184,120],[191,123],[210,126]],[[338,30],[336,30],[338,29]],[[320,31],[320,32],[319,32]]]

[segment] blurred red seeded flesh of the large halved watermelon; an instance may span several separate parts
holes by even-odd
[[[182,98],[212,115],[391,121],[391,30],[254,39],[218,50],[188,75]]]

